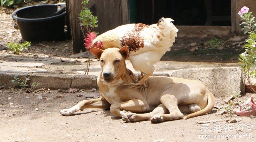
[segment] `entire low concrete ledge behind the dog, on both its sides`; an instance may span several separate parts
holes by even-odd
[[[0,72],[0,86],[11,87],[14,75],[25,79],[21,73]],[[92,89],[97,88],[97,76],[64,75],[64,74],[25,74],[32,82],[40,83],[37,89]],[[202,82],[214,96],[228,97],[236,91],[245,91],[245,76],[238,67],[197,68],[170,71],[153,76],[171,76],[193,79]]]

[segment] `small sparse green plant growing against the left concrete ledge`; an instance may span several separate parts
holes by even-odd
[[[25,76],[25,75],[24,75]],[[14,88],[20,88],[22,90],[27,90],[30,93],[33,93],[34,89],[39,85],[39,83],[34,82],[31,84],[30,79],[25,76],[25,80],[19,79],[18,75],[15,75],[14,80],[12,80]],[[30,88],[29,88],[30,85]],[[34,93],[33,93],[34,95]]]

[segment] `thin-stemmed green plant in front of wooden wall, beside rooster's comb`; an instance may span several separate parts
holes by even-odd
[[[81,27],[84,39],[87,38],[87,36],[90,32],[94,32],[94,33],[96,33],[96,35],[98,34],[97,32],[94,31],[94,28],[98,27],[98,24],[97,24],[98,18],[96,16],[93,16],[91,11],[87,7],[85,7],[85,5],[88,5],[88,2],[89,2],[89,0],[83,0],[82,1],[82,4],[84,6],[82,6],[82,10],[79,13],[79,17],[78,17],[79,20],[80,20],[80,27]],[[84,34],[84,32],[86,34]],[[90,68],[90,54],[89,54],[89,52],[88,52],[87,58],[88,58],[88,61],[87,61],[87,67],[86,67],[86,70],[85,70],[85,75],[88,75],[89,68]]]

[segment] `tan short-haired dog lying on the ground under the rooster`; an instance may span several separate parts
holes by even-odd
[[[85,108],[110,109],[124,122],[150,120],[152,123],[188,119],[210,112],[214,107],[211,92],[199,81],[175,77],[150,77],[146,86],[134,86],[142,76],[126,68],[127,46],[101,50],[91,47],[100,59],[97,78],[101,98],[83,100],[60,113],[64,116]],[[183,113],[189,114],[184,117]],[[192,114],[190,114],[192,113]]]

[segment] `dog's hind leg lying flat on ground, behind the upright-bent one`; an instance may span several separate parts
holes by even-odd
[[[152,112],[150,113],[132,113],[132,112],[126,112],[122,116],[122,120],[124,122],[138,122],[138,121],[146,121],[152,118],[156,115],[166,114],[169,113],[169,111],[164,107],[163,104],[160,104],[157,106]]]

